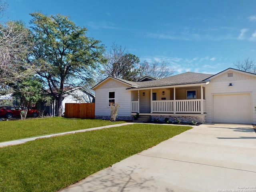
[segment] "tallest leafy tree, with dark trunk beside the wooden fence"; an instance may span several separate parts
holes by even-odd
[[[31,62],[37,74],[58,101],[58,116],[62,115],[63,89],[91,79],[98,62],[104,62],[104,45],[86,36],[85,27],[76,26],[68,16],[30,14],[36,42]]]

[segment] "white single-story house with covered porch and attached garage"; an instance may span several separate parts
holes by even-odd
[[[145,79],[144,79],[145,80]],[[186,72],[158,80],[130,82],[109,76],[95,90],[95,118],[109,119],[109,102],[118,119],[149,115],[151,120],[256,124],[256,74],[228,68],[218,74]]]

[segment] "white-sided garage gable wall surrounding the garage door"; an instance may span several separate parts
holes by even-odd
[[[228,73],[233,73],[228,77]],[[232,86],[228,86],[232,83]],[[206,85],[206,112],[207,122],[213,122],[213,96],[216,94],[250,94],[250,119],[256,124],[256,77],[245,75],[239,72],[227,71],[226,73],[216,76]],[[239,101],[237,101],[239,102]]]

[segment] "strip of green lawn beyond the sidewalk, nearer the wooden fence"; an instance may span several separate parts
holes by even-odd
[[[63,117],[2,121],[0,122],[0,142],[120,123],[124,121],[110,122],[99,119]]]

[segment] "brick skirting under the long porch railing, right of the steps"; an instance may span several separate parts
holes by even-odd
[[[191,123],[192,120],[196,120],[197,123],[199,124],[204,124],[206,123],[206,114],[193,114],[193,115],[179,115],[179,114],[174,114],[174,115],[151,115],[151,120],[159,120],[160,122],[164,122],[165,118],[169,118],[169,121],[175,121],[175,118],[179,118],[180,122],[182,123]]]

